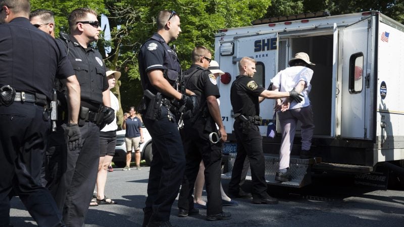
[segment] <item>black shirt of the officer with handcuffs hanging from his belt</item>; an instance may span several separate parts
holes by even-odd
[[[192,72],[194,72],[193,75],[191,75]],[[184,75],[187,83],[186,88],[196,94],[200,108],[205,108],[207,97],[220,97],[215,75],[213,75],[209,70],[193,64],[187,71],[184,72]]]

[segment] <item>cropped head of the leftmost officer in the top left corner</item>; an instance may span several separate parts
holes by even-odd
[[[8,23],[16,17],[28,18],[31,11],[29,0],[0,0],[0,7],[3,10],[7,7],[9,11],[2,23]]]

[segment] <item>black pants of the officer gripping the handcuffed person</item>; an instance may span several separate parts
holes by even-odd
[[[265,196],[267,183],[265,181],[265,157],[262,150],[262,136],[258,126],[251,125],[243,132],[242,122],[235,121],[233,124],[237,139],[237,156],[234,161],[229,193],[237,195],[240,189],[241,172],[244,159],[247,156],[250,162],[252,178],[252,194]]]

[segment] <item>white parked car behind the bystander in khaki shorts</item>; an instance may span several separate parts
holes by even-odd
[[[153,159],[153,153],[151,153],[151,136],[148,133],[146,127],[142,127],[144,143],[140,144],[140,159],[146,161],[146,165],[150,165],[151,159]],[[126,165],[126,145],[125,145],[125,132],[126,130],[117,131],[117,145],[115,147],[115,155],[112,161],[117,167],[125,167]],[[135,150],[132,149],[132,160],[135,159]]]

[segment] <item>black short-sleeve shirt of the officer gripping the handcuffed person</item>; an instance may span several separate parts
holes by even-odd
[[[230,101],[234,113],[246,117],[260,115],[259,96],[265,90],[254,79],[239,75],[231,85]]]

